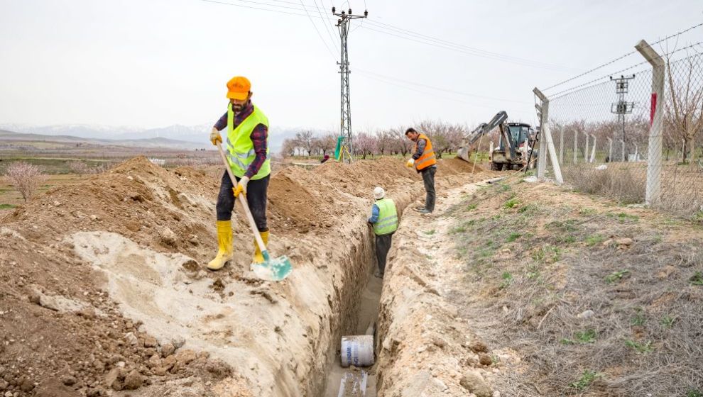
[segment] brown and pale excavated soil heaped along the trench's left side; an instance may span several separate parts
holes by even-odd
[[[479,179],[479,167],[469,172],[440,161],[438,199]],[[376,185],[400,206],[423,196],[419,175],[396,159],[273,175],[270,248],[295,266],[280,283],[249,272],[239,216],[233,263],[203,270],[216,250],[219,178],[195,169],[137,157],[18,206],[0,229],[0,391],[319,395],[327,352],[356,330],[374,265],[366,216]]]

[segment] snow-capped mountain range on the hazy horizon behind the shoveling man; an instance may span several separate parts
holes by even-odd
[[[209,149],[208,138],[212,124],[201,125],[169,125],[162,128],[135,128],[135,127],[109,127],[105,125],[87,124],[65,124],[65,125],[24,125],[24,124],[0,124],[0,129],[16,131],[18,133],[64,136],[73,138],[84,138],[94,140],[119,140],[129,142],[131,140],[146,140],[148,138],[163,138],[179,142],[196,143],[192,148],[205,147]],[[293,138],[300,128],[273,127],[268,132],[268,145],[271,152],[277,153],[283,146],[285,138]],[[224,138],[224,131],[222,138]],[[44,140],[46,140],[44,138]],[[155,140],[153,142],[164,142]],[[114,143],[113,143],[114,144]],[[180,145],[171,143],[170,145]],[[169,146],[172,147],[172,146]]]

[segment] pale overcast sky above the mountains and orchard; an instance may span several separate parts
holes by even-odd
[[[303,0],[310,17],[296,0],[218,1],[239,6],[0,0],[0,123],[214,123],[226,110],[227,80],[241,74],[272,125],[338,130],[339,34],[321,18],[332,4],[369,9],[349,34],[354,130],[424,118],[475,125],[500,110],[534,123],[534,86],[703,21],[700,0]],[[465,47],[418,43],[418,35]],[[703,28],[680,36],[702,40]],[[631,55],[588,77],[642,60]]]

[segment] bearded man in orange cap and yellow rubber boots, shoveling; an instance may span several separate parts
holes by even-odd
[[[268,118],[251,102],[251,82],[246,77],[233,77],[227,82],[227,112],[212,127],[212,145],[222,143],[219,131],[227,128],[227,162],[236,181],[227,170],[217,195],[217,255],[207,269],[219,270],[232,259],[232,210],[234,199],[246,194],[251,215],[261,239],[268,245],[266,194],[271,179],[268,157]],[[236,187],[235,184],[236,183]],[[263,255],[254,240],[254,263],[263,263]]]

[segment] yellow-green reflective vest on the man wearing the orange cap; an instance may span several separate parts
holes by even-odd
[[[236,177],[244,177],[249,164],[256,158],[254,142],[251,142],[251,131],[259,124],[266,125],[268,128],[268,118],[254,106],[254,111],[234,128],[232,104],[227,106],[227,162]],[[271,174],[271,161],[268,157],[268,145],[266,145],[266,161],[251,179],[261,179],[268,174]]]

